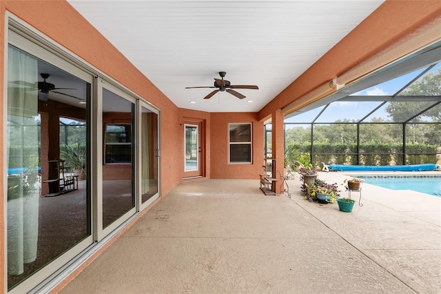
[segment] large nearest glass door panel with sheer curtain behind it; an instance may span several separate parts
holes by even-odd
[[[8,46],[8,289],[92,244],[88,81]]]

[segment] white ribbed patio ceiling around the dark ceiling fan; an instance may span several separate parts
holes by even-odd
[[[384,1],[68,2],[179,108],[256,112]],[[185,89],[213,86],[220,71],[259,90]]]

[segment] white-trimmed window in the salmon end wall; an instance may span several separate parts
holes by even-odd
[[[229,163],[252,163],[252,124],[229,124]]]

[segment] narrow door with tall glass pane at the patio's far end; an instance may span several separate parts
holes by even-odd
[[[201,125],[200,121],[185,121],[184,124],[184,177],[203,175]]]

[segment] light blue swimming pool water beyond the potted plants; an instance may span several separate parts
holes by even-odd
[[[441,175],[360,175],[365,183],[391,190],[413,190],[441,197]]]

